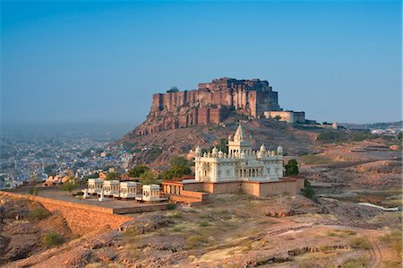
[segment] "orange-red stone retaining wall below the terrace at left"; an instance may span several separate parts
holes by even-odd
[[[36,201],[41,203],[49,212],[60,212],[73,233],[79,236],[102,229],[105,226],[116,229],[124,222],[133,220],[133,217],[114,214],[114,210],[111,208],[55,200],[37,195],[20,195],[4,191],[0,191],[0,194]]]

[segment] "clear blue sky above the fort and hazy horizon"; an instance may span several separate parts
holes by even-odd
[[[400,1],[2,1],[2,121],[140,123],[151,94],[268,80],[318,121],[401,118]]]

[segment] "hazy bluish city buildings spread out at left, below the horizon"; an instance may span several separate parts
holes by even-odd
[[[110,139],[86,135],[26,136],[3,135],[0,143],[0,189],[38,182],[44,186],[63,183],[69,176],[82,179],[114,167],[129,170],[133,153]]]

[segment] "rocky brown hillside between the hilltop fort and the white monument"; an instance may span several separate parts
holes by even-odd
[[[186,156],[197,145],[208,149],[212,144],[218,144],[220,139],[235,133],[239,118],[229,117],[221,125],[192,125],[147,135],[136,134],[135,129],[116,143],[122,143],[136,152],[135,161],[160,166],[167,164],[173,156]],[[289,155],[315,150],[316,132],[301,130],[274,119],[244,119],[242,125],[245,133],[251,135],[253,148],[256,150],[262,143],[270,150],[281,144]]]

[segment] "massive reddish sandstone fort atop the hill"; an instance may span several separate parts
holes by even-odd
[[[303,123],[304,112],[283,111],[278,92],[265,80],[214,79],[201,82],[193,91],[167,91],[152,96],[147,120],[136,134],[145,135],[190,125],[219,124],[231,114],[248,117],[279,117]]]

